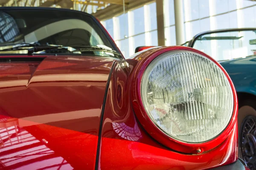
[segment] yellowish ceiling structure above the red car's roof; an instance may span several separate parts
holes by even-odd
[[[106,20],[154,0],[0,0],[0,6],[39,6],[81,10],[93,13],[99,20]],[[244,0],[256,1],[256,0]],[[124,4],[123,4],[124,2]],[[123,8],[125,5],[125,8]],[[78,7],[79,6],[79,7]],[[86,10],[92,6],[93,10]],[[95,9],[96,8],[96,9]]]

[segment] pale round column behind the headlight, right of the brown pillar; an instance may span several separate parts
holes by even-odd
[[[174,0],[176,45],[181,45],[184,40],[183,1]]]

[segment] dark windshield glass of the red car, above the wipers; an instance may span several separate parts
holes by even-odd
[[[56,9],[16,9],[0,11],[0,50],[16,47],[22,43],[38,45],[61,45],[69,51],[76,47],[100,47],[105,51],[90,50],[78,54],[117,57],[107,50],[115,51],[110,40],[95,20],[88,14]],[[10,45],[11,44],[11,45]],[[51,50],[48,50],[52,53]],[[47,53],[48,53],[47,52]],[[0,51],[0,54],[26,54],[23,49]],[[40,54],[41,52],[37,52]],[[44,51],[44,54],[46,52]],[[54,51],[56,54],[56,50]],[[65,53],[59,51],[58,53]],[[71,53],[73,54],[73,53]]]

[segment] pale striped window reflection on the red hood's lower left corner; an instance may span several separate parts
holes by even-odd
[[[17,126],[17,120],[1,123],[0,162],[8,169],[73,169],[67,161],[56,154],[27,130]],[[1,167],[0,165],[0,167]]]

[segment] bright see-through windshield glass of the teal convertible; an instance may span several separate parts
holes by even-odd
[[[195,40],[193,48],[217,61],[256,55],[256,30],[204,34]]]

